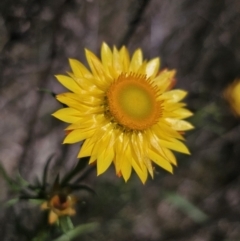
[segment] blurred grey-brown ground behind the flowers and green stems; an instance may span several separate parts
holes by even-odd
[[[1,0],[0,32],[0,161],[12,177],[31,182],[51,154],[52,176],[76,163],[80,144],[62,145],[66,125],[51,116],[60,104],[38,90],[62,92],[54,75],[69,71],[68,58],[86,63],[84,48],[140,47],[189,92],[192,155],[177,154],[174,175],[156,168],[145,185],[113,168],[91,172],[84,183],[96,195],[77,193],[73,222],[100,228],[76,240],[240,240],[240,119],[222,98],[240,77],[239,0]],[[1,239],[44,240],[39,206],[6,208],[11,197],[0,177]]]

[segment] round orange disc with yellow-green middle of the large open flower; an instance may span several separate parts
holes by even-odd
[[[107,90],[110,115],[130,130],[145,130],[161,117],[157,88],[145,75],[121,74]]]

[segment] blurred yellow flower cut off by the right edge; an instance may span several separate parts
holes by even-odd
[[[223,94],[233,113],[240,116],[240,79],[237,79],[230,84]]]

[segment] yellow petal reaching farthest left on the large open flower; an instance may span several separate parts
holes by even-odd
[[[66,123],[75,123],[79,121],[80,112],[73,108],[63,108],[54,112],[52,116]]]

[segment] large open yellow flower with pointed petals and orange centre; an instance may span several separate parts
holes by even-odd
[[[89,50],[86,58],[90,71],[70,59],[69,77],[56,76],[71,91],[57,95],[69,107],[53,114],[70,123],[64,143],[85,140],[78,157],[96,161],[98,175],[112,162],[125,181],[133,168],[145,183],[153,162],[172,173],[171,150],[189,154],[181,132],[193,128],[183,120],[192,113],[179,102],[186,91],[168,91],[175,71],[159,73],[159,58],[143,60],[140,49],[130,58],[125,46],[111,50],[105,43],[101,60]]]

